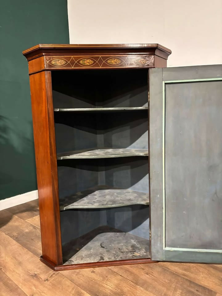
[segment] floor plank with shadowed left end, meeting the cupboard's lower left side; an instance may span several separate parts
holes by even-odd
[[[0,212],[0,229],[34,255],[42,255],[40,229],[7,210]]]

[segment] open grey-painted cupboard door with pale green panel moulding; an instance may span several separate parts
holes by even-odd
[[[150,69],[151,259],[222,262],[222,65]]]

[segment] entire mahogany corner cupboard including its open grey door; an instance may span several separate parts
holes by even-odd
[[[159,44],[39,44],[29,65],[40,260],[222,262],[222,66]],[[151,69],[153,68],[153,69]]]

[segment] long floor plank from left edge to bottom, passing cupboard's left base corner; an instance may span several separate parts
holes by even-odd
[[[0,231],[0,268],[27,296],[89,296]]]

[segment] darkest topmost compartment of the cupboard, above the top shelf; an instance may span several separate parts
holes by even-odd
[[[52,71],[54,108],[145,107],[147,69]]]

